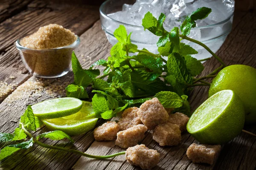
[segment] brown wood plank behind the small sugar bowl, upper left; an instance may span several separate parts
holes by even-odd
[[[0,24],[0,81],[4,83],[4,80],[8,79],[7,87],[6,85],[1,86],[5,93],[0,95],[0,102],[17,85],[31,77],[26,71],[14,44],[18,38],[35,32],[40,26],[50,23],[57,23],[81,35],[99,19],[98,6],[61,5],[52,1],[47,3],[36,0],[30,3],[28,7],[25,11]],[[5,74],[6,69],[16,71],[9,71],[7,75]],[[18,79],[13,79],[15,82],[12,82],[9,77],[18,77]]]

